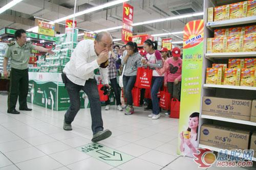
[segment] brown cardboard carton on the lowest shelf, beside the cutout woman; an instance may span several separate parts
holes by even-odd
[[[247,150],[249,131],[204,124],[201,126],[200,144],[227,150]]]

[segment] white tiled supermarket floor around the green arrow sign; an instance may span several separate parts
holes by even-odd
[[[113,135],[99,143],[135,157],[117,167],[75,149],[91,143],[90,109],[81,109],[72,123],[73,130],[64,131],[65,111],[33,106],[31,112],[7,114],[7,96],[0,95],[0,170],[199,169],[193,159],[176,154],[178,119],[162,114],[152,120],[147,117],[151,112],[141,108],[126,116],[114,108],[102,110],[104,128],[112,130]]]

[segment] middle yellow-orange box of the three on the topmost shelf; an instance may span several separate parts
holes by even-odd
[[[243,18],[247,14],[247,1],[229,5],[229,19]]]

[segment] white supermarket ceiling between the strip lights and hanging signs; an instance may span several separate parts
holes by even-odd
[[[108,2],[110,2],[109,0]],[[1,0],[3,7],[10,0]],[[0,27],[29,29],[35,26],[33,16],[55,20],[73,14],[74,0],[24,0],[10,10],[0,14]],[[107,0],[77,0],[77,11],[107,3]],[[193,8],[195,12],[203,11],[203,0],[132,0],[134,6],[134,22],[160,19],[176,16],[171,11]],[[189,10],[183,10],[189,12]],[[159,34],[164,30],[169,32],[182,31],[185,23],[190,20],[202,19],[203,16],[177,19],[134,27],[134,34]],[[122,4],[92,12],[76,18],[77,27],[87,30],[100,30],[122,25]],[[60,32],[64,32],[60,27]],[[82,31],[81,31],[82,32]],[[115,38],[121,38],[121,30],[111,31]],[[182,37],[182,35],[179,35]],[[174,41],[180,41],[173,37]]]

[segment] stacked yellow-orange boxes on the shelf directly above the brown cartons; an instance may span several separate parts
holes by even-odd
[[[206,84],[256,87],[256,59],[229,59],[206,69]]]

